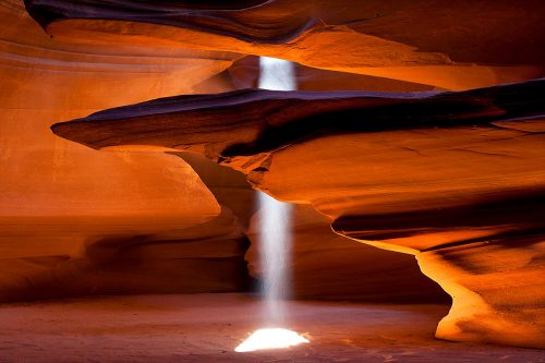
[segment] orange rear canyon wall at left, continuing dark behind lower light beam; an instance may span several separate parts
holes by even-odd
[[[66,11],[84,9],[76,5]],[[246,235],[256,205],[244,176],[187,155],[97,153],[49,131],[106,108],[235,89],[256,75],[232,68],[244,55],[123,34],[61,40],[19,0],[0,3],[0,301],[246,290],[259,247]],[[411,258],[341,245],[322,216],[305,216],[301,235],[314,243],[298,239],[294,297],[444,301]],[[330,259],[308,258],[326,253]]]

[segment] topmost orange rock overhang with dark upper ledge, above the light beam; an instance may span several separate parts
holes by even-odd
[[[27,0],[60,38],[235,51],[468,89],[543,76],[545,9],[523,1]],[[521,21],[524,20],[524,21]]]

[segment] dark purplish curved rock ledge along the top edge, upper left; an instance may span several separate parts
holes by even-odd
[[[43,26],[69,19],[134,21],[187,27],[245,41],[286,43],[311,27],[306,5],[289,0],[126,1],[25,0],[28,13]]]

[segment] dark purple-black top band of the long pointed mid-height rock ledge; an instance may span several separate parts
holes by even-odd
[[[545,80],[460,93],[242,89],[119,107],[57,123],[51,130],[97,149],[203,146],[208,156],[229,158],[274,152],[320,135],[500,128],[494,123],[543,116],[543,93]]]

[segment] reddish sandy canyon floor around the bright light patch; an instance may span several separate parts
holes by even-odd
[[[235,353],[263,327],[243,294],[134,295],[0,305],[0,362],[545,362],[540,350],[440,341],[445,305],[288,302],[311,343]]]

